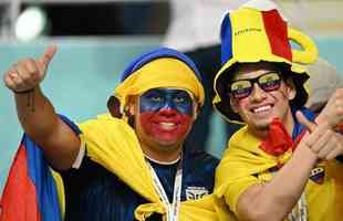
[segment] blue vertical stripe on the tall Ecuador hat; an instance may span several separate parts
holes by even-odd
[[[230,12],[225,15],[220,28],[221,65],[232,57],[232,30]]]

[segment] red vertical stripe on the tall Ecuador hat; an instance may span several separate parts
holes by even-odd
[[[288,40],[287,23],[277,10],[263,11],[264,29],[269,39],[271,52],[292,62],[291,46]]]

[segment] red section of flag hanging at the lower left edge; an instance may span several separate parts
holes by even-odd
[[[40,221],[37,192],[28,175],[27,151],[21,146],[11,166],[1,199],[0,220]]]

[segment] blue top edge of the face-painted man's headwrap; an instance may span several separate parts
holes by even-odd
[[[153,50],[150,52],[142,54],[139,57],[135,59],[121,74],[119,81],[123,82],[126,77],[128,77],[132,73],[139,70],[143,65],[147,64],[148,62],[162,59],[162,57],[174,57],[177,59],[185,64],[187,64],[194,72],[197,78],[201,82],[200,72],[198,71],[195,63],[185,54],[169,49],[169,48],[158,48],[156,50]]]

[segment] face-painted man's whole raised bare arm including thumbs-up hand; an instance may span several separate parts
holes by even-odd
[[[56,48],[52,45],[39,59],[20,60],[4,73],[3,82],[14,93],[18,117],[24,131],[43,149],[55,168],[67,169],[77,156],[81,141],[60,119],[39,87],[55,52]]]

